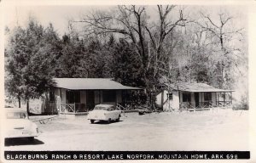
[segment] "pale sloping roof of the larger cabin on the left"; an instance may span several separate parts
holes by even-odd
[[[138,90],[138,87],[128,87],[114,82],[111,78],[54,78],[56,82],[55,87],[61,87],[66,89],[90,89],[90,90],[102,90],[102,89],[115,89],[115,90]]]

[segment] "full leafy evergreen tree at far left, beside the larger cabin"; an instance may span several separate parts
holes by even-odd
[[[54,54],[57,53],[53,42],[57,35],[52,27],[44,30],[36,20],[29,20],[26,29],[17,27],[10,37],[6,48],[6,83],[9,96],[24,99],[29,109],[29,100],[39,98],[42,93],[54,85],[52,69]],[[29,112],[29,110],[28,110]]]

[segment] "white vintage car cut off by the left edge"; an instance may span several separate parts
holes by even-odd
[[[28,119],[26,110],[6,108],[4,126],[5,138],[28,138],[30,141],[38,137],[38,126]]]

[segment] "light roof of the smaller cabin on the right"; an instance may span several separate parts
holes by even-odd
[[[191,93],[207,93],[207,92],[234,92],[234,90],[218,89],[216,87],[209,86],[205,83],[179,83],[176,85],[170,85],[172,89],[191,92]]]

